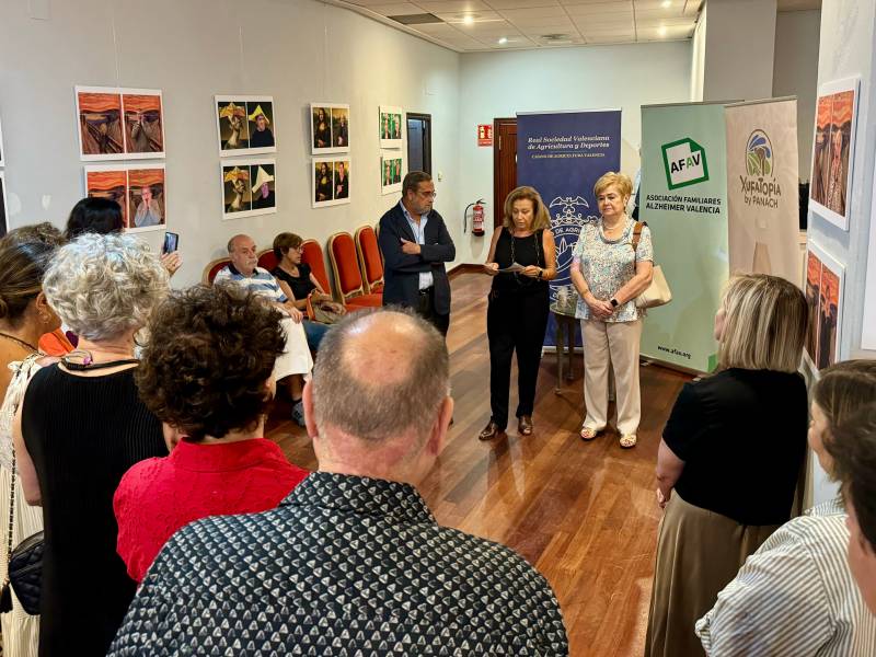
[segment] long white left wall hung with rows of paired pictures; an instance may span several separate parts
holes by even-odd
[[[30,19],[27,7],[3,0],[0,18],[12,227],[62,226],[83,195],[74,84],[163,90],[168,228],[180,233],[185,261],[175,285],[199,280],[239,232],[262,246],[284,230],[324,244],[374,223],[399,198],[380,195],[379,104],[433,115],[433,166],[445,172],[437,207],[457,212],[457,53],[311,0],[55,1],[49,21]],[[277,215],[221,220],[215,94],[274,95]],[[312,101],[350,105],[350,205],[310,207]],[[162,233],[148,234],[160,245]]]

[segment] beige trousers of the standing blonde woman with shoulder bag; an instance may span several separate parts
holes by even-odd
[[[584,426],[601,430],[608,425],[609,370],[614,369],[618,402],[618,431],[629,436],[638,431],[642,395],[638,389],[638,345],[642,320],[601,322],[581,320],[584,336]]]

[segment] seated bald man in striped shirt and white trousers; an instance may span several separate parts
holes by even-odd
[[[231,263],[219,270],[214,285],[240,285],[253,290],[277,307],[287,316],[283,320],[286,333],[286,350],[277,358],[274,366],[274,380],[289,379],[289,393],[292,397],[292,419],[304,426],[304,410],[301,404],[301,391],[304,377],[310,376],[313,358],[310,355],[302,314],[280,289],[277,279],[258,266],[255,242],[250,235],[234,235],[228,241],[228,255]]]

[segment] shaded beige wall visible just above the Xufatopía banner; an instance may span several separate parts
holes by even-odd
[[[775,19],[773,96],[797,96],[797,146],[800,181],[809,180],[818,87],[818,39],[821,12],[780,12]]]

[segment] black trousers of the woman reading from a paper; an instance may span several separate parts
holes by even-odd
[[[541,349],[548,328],[548,286],[522,292],[491,291],[486,311],[489,339],[489,405],[500,429],[508,426],[511,356],[517,351],[517,417],[532,415]]]

